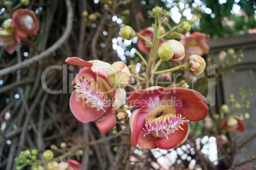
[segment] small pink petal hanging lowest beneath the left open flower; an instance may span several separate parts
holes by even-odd
[[[111,109],[106,111],[106,113],[97,121],[97,128],[101,131],[102,134],[107,133],[113,129],[117,124],[117,117],[112,114]]]

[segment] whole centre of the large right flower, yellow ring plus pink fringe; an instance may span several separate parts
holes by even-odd
[[[145,128],[143,128],[146,134],[152,134],[157,138],[162,138],[168,135],[175,133],[176,130],[181,129],[180,125],[183,125],[188,120],[185,117],[175,114],[176,110],[173,107],[158,107],[152,110],[145,119]],[[160,132],[160,133],[159,133]]]

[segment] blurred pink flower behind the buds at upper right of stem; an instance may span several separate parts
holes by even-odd
[[[189,34],[186,34],[189,35]],[[205,55],[210,47],[205,41],[210,40],[210,35],[203,34],[201,32],[194,32],[190,36],[185,36],[183,39],[183,46],[185,47],[185,58],[187,61],[190,55]]]

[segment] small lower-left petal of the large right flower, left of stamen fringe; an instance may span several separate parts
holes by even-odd
[[[141,129],[141,131],[139,132],[139,136],[138,136],[139,147],[148,148],[148,149],[158,148],[157,143],[155,141],[155,137],[152,134],[146,134],[144,136],[145,133],[146,131],[144,131],[143,129]]]

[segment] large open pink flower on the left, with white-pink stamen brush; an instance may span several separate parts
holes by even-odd
[[[111,88],[107,78],[109,63],[99,60],[86,62],[77,57],[67,58],[72,65],[83,66],[72,84],[76,84],[69,101],[71,112],[81,122],[97,121],[101,133],[107,133],[117,124],[115,112],[125,101],[122,88]]]

